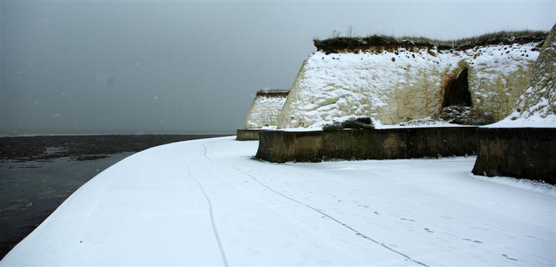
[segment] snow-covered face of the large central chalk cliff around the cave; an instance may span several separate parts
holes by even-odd
[[[464,69],[475,111],[502,119],[527,84],[537,45],[318,51],[297,74],[278,128],[312,128],[350,116],[370,116],[383,124],[432,117],[441,112],[445,86]]]

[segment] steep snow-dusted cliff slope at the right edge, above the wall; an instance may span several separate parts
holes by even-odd
[[[556,128],[556,24],[531,69],[529,86],[506,119],[490,127]]]

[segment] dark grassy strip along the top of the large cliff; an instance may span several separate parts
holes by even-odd
[[[491,44],[526,44],[529,42],[542,42],[548,32],[546,31],[497,31],[483,35],[461,38],[458,40],[436,40],[423,36],[393,37],[390,35],[370,35],[368,37],[334,37],[326,40],[313,40],[318,50],[325,53],[339,51],[365,51],[370,46],[391,47],[427,47],[436,46],[440,50],[466,50],[475,46]]]

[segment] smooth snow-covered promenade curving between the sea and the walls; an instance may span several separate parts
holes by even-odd
[[[184,141],[83,185],[0,266],[555,266],[556,191],[474,157],[270,164]]]

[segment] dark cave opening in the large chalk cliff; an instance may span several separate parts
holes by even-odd
[[[452,105],[471,107],[473,103],[471,102],[471,93],[467,83],[467,72],[467,69],[464,69],[455,79],[450,80],[450,83],[446,85],[442,107],[450,107]]]

